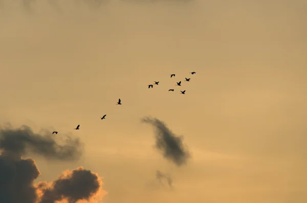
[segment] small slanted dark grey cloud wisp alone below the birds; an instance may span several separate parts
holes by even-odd
[[[182,166],[191,157],[188,149],[183,144],[183,137],[176,136],[166,125],[156,119],[145,117],[142,122],[151,124],[155,128],[156,148],[163,153],[163,156],[176,164]]]

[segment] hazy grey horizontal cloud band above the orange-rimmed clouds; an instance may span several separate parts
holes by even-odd
[[[47,159],[78,160],[82,155],[83,144],[78,138],[69,136],[59,144],[56,135],[44,130],[43,134],[34,133],[28,126],[0,129],[0,150],[12,151],[20,155],[35,153]]]

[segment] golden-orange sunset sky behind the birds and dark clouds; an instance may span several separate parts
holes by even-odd
[[[0,125],[83,146],[20,152],[35,183],[83,167],[105,203],[307,201],[306,1],[89,2],[0,4]],[[162,131],[184,164],[157,147]]]

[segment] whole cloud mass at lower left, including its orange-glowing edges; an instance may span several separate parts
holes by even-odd
[[[90,170],[79,167],[66,171],[52,183],[34,184],[40,172],[31,158],[21,156],[28,150],[40,153],[50,160],[73,160],[80,157],[73,140],[65,145],[56,144],[46,135],[35,134],[24,126],[0,131],[0,199],[2,203],[55,203],[63,199],[69,203],[97,197],[102,192],[101,179]],[[36,148],[36,150],[33,150]]]

